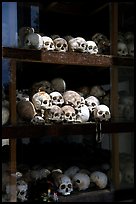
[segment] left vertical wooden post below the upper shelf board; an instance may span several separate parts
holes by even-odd
[[[10,115],[11,125],[16,125],[16,61],[10,61]],[[11,198],[10,202],[16,202],[16,139],[9,140],[10,145],[10,172],[11,172]]]

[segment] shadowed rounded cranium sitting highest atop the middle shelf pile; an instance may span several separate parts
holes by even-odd
[[[60,93],[64,93],[64,91],[66,91],[66,82],[62,78],[52,79],[51,86],[53,91],[59,91]]]

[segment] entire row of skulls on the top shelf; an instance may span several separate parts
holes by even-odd
[[[134,56],[134,34],[126,32],[125,37],[122,36],[123,34],[119,32],[117,54],[119,56]],[[49,37],[35,33],[31,27],[22,27],[19,30],[19,47],[58,52],[110,53],[110,41],[102,33],[94,34],[91,40],[86,40],[83,37],[60,37],[59,35]]]

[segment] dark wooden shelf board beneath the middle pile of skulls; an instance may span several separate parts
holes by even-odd
[[[134,131],[134,122],[104,122],[101,125],[102,133],[119,133]],[[23,133],[23,134],[22,134]],[[2,138],[26,138],[26,137],[44,137],[63,136],[63,135],[91,135],[96,133],[95,123],[83,124],[52,124],[52,125],[19,125],[3,126]]]

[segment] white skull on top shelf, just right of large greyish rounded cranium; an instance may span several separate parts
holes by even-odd
[[[42,40],[43,40],[43,49],[44,50],[46,50],[46,51],[51,50],[52,51],[55,49],[54,42],[50,37],[42,36]]]

